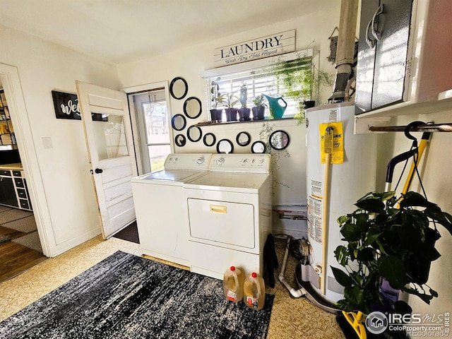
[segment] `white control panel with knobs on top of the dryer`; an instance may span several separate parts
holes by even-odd
[[[270,154],[214,154],[211,172],[270,173]]]

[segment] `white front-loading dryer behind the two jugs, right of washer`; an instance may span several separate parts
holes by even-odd
[[[210,172],[184,184],[192,272],[222,279],[233,265],[263,273],[271,184],[269,154],[213,155]]]

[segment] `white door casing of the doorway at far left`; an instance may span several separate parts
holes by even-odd
[[[17,67],[0,63],[0,77],[14,126],[14,133],[18,141],[20,160],[26,174],[25,179],[27,180],[28,192],[33,206],[42,254],[50,257],[52,252],[57,250],[51,249],[49,246],[49,239],[52,234],[47,232],[47,230],[52,230],[52,220],[50,219],[49,205],[45,196],[44,185],[42,184],[41,169],[35,152],[35,142],[32,137],[33,133],[28,119]]]

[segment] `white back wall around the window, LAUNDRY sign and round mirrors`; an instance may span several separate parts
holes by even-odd
[[[263,23],[262,27],[242,32],[239,35],[232,35],[205,44],[179,49],[152,59],[120,64],[118,65],[119,79],[122,86],[126,88],[157,81],[171,81],[176,76],[182,76],[189,84],[187,97],[198,97],[203,103],[203,114],[196,120],[187,121],[187,127],[199,121],[207,121],[206,88],[204,87],[200,73],[201,71],[214,67],[213,52],[215,48],[295,29],[296,49],[314,48],[317,54],[320,52],[320,69],[334,74],[335,69],[326,57],[330,55],[330,40],[328,40],[328,37],[333,32],[335,26],[338,25],[340,1],[330,0],[329,3],[329,6],[323,6],[324,8],[321,11],[314,14],[311,13],[309,16],[302,16],[279,23]],[[323,102],[326,102],[332,91],[333,88],[325,90],[325,93],[321,96]],[[183,114],[183,104],[184,100],[174,100],[171,98],[172,115]],[[259,131],[261,129],[261,122],[202,127],[203,133],[209,131],[214,133],[217,141],[220,138],[229,138],[234,143],[234,153],[251,153],[251,145],[242,148],[235,142],[235,137],[239,131],[248,131],[251,134],[251,143],[253,143],[254,141],[260,140]],[[290,133],[291,138],[290,147],[287,149],[290,157],[285,157],[285,153],[280,152],[280,159],[275,164],[276,169],[274,173],[276,182],[273,186],[273,205],[305,204],[306,179],[304,163],[306,156],[304,150],[304,126],[297,126],[297,121],[293,120],[275,121],[273,129],[285,129]],[[186,129],[182,133],[185,134]],[[206,150],[216,153],[215,147],[206,148],[202,140],[198,143],[191,143],[187,140],[184,148],[176,147],[176,152],[184,153],[206,152]],[[278,167],[284,170],[280,170]]]

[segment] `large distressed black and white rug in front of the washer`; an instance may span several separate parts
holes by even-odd
[[[227,301],[222,281],[117,251],[0,323],[0,338],[266,338],[273,306]]]

